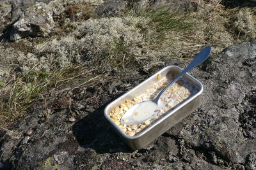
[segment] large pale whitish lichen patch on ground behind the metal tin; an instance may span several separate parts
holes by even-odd
[[[149,48],[150,41],[136,26],[141,22],[145,22],[141,17],[87,20],[76,23],[77,29],[68,36],[53,39],[36,48],[38,53],[44,55],[41,60],[47,59],[50,63],[58,61],[60,67],[83,61],[109,71],[113,67],[124,67],[134,60],[147,71],[163,62],[161,53]]]

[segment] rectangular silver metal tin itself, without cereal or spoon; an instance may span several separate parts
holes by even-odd
[[[125,99],[134,99],[136,96],[140,96],[145,92],[145,89],[148,89],[156,83],[157,80],[157,74],[161,74],[162,76],[166,75],[173,75],[173,74],[179,74],[182,71],[180,67],[177,66],[168,66],[161,69],[161,71],[158,71],[156,74],[150,76],[147,80],[143,81],[133,89],[129,90],[129,92],[126,92],[124,95],[118,97],[115,99],[115,101],[111,102],[106,106],[104,110],[104,116],[106,119],[110,122],[110,124],[113,126],[115,131],[124,139],[124,141],[134,150],[140,150],[141,148],[144,148],[147,146],[150,142],[152,142],[154,139],[156,139],[158,136],[161,136],[164,132],[166,132],[168,129],[173,127],[173,125],[177,124],[182,120],[183,118],[187,117],[190,113],[195,111],[201,104],[201,97],[203,92],[203,85],[200,83],[200,81],[193,78],[193,76],[189,75],[188,73],[183,76],[183,78],[186,78],[191,82],[193,85],[198,87],[198,92],[196,94],[193,94],[192,96],[189,96],[188,99],[185,99],[180,104],[177,104],[175,107],[173,107],[171,110],[167,111],[162,115],[159,119],[157,119],[155,122],[152,122],[152,124],[148,125],[143,131],[139,132],[138,134],[135,134],[134,136],[127,136],[122,129],[118,127],[118,125],[111,120],[111,118],[108,116],[109,113],[116,107],[118,107],[121,103],[124,103]]]

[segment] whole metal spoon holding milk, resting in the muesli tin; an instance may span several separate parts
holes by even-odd
[[[141,122],[145,122],[149,118],[152,118],[156,111],[159,110],[158,101],[161,95],[166,89],[168,89],[173,83],[178,81],[184,74],[204,62],[211,53],[211,46],[206,46],[201,50],[193,59],[190,64],[173,80],[171,81],[163,90],[157,94],[157,96],[150,101],[141,101],[140,103],[135,104],[129,110],[127,110],[124,116],[121,118],[121,124],[125,125],[136,125]]]

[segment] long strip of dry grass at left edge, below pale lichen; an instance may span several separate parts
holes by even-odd
[[[0,89],[0,126],[19,120],[37,102],[49,101],[47,94],[54,96],[61,87],[68,86],[66,90],[88,85],[90,81],[99,78],[83,66],[70,66],[65,69],[49,72],[31,69],[27,73],[15,75],[8,82],[1,82]],[[45,98],[47,97],[47,99]],[[47,115],[45,108],[45,115]]]

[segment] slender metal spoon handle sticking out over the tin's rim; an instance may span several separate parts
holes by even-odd
[[[184,76],[184,74],[186,74],[188,71],[190,71],[191,69],[193,69],[194,67],[198,66],[199,64],[201,64],[202,62],[204,62],[210,55],[211,53],[211,46],[206,46],[203,50],[201,50],[195,57],[195,59],[193,59],[190,64],[172,81],[170,82],[168,85],[166,85],[166,87],[164,87],[163,90],[161,90],[159,92],[159,94],[152,100],[154,103],[157,103],[157,101],[159,100],[159,98],[161,97],[161,95],[164,93],[164,91],[166,89],[168,89],[173,83],[175,83],[176,81],[178,81],[182,76]]]

